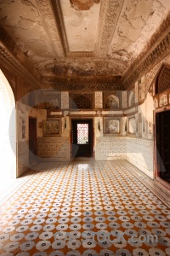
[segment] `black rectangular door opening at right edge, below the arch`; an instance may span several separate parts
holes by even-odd
[[[156,176],[170,183],[170,110],[156,113]]]

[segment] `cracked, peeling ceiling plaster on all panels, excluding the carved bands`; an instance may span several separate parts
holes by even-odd
[[[122,75],[147,45],[170,10],[169,0],[125,0],[121,13],[116,13],[118,21],[109,52],[105,59],[100,59],[95,55],[94,49],[98,44],[101,3],[98,0],[71,2],[74,8],[71,7],[70,0],[59,2],[64,17],[68,48],[73,53],[94,52],[94,57],[65,57],[65,61],[59,60],[48,36],[44,17],[40,15],[37,1],[0,1],[1,25],[42,75]],[[76,5],[82,6],[82,10],[75,9]],[[110,11],[108,9],[108,14]],[[48,8],[45,9],[45,15],[48,18]],[[102,19],[105,17],[102,16]],[[110,34],[109,24],[103,27],[108,30],[106,35]]]

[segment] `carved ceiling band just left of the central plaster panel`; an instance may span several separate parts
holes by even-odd
[[[59,35],[59,27],[54,20],[52,2],[50,0],[37,0],[37,5],[42,12],[42,20],[44,21],[44,26],[46,26],[48,30],[49,38],[54,45],[54,51],[56,52],[56,55],[59,59],[64,59],[65,51],[62,46],[63,42],[61,42],[61,38]],[[56,17],[58,17],[59,19],[59,14],[56,15]]]

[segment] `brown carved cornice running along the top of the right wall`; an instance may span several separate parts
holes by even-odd
[[[133,64],[127,69],[122,76],[122,84],[127,90],[137,81],[144,73],[148,72],[151,67],[161,61],[170,51],[170,13],[161,24],[159,30],[152,36],[149,44],[143,52],[137,57]]]

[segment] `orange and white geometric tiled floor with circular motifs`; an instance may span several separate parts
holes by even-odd
[[[0,207],[0,254],[170,255],[170,210],[128,166],[42,164]]]

